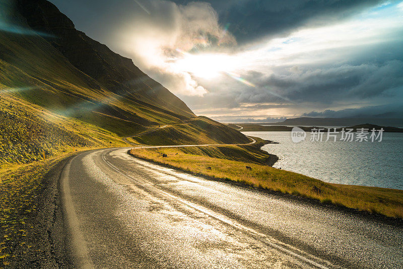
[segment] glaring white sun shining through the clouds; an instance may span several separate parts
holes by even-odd
[[[233,60],[224,54],[186,53],[174,65],[178,71],[191,73],[195,77],[214,79],[224,72],[231,71]]]

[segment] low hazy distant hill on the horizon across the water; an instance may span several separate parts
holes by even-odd
[[[353,126],[358,124],[403,127],[403,118],[288,118],[282,122],[256,123],[267,125],[304,125],[304,126]]]

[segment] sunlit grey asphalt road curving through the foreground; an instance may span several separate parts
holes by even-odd
[[[128,150],[86,152],[63,169],[77,267],[403,268],[399,224],[190,176]]]

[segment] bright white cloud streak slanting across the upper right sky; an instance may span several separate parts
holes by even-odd
[[[303,29],[286,38],[254,44],[253,49],[246,48],[238,57],[248,59],[250,69],[260,66],[258,71],[278,65],[340,61],[362,47],[400,40],[401,37],[394,34],[399,30],[403,30],[402,17],[360,18],[332,26]]]

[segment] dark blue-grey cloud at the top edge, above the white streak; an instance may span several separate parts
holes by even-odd
[[[192,1],[176,0],[178,4]],[[220,16],[222,25],[239,43],[265,36],[288,34],[299,27],[331,24],[362,12],[380,0],[207,0]],[[392,1],[395,2],[395,1]]]

